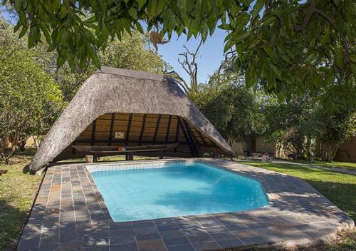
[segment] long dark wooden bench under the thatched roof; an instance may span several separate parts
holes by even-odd
[[[162,159],[165,150],[172,150],[178,145],[179,143],[137,146],[72,145],[72,147],[81,153],[93,155],[93,162],[96,162],[98,155],[125,155],[126,160],[133,160],[134,153],[145,152],[159,152],[159,158]],[[120,151],[119,147],[125,148],[125,150]]]

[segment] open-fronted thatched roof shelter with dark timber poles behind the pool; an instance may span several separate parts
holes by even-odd
[[[212,152],[234,156],[174,79],[103,67],[80,87],[48,131],[29,168],[34,171],[53,160],[83,158],[85,154],[72,145],[162,143],[179,143],[164,156],[199,157]]]

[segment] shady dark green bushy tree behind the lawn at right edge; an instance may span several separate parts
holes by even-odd
[[[310,94],[283,103],[271,98],[263,113],[268,139],[298,159],[331,161],[339,145],[356,135],[355,110],[330,111]]]

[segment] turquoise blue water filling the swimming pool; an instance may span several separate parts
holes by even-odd
[[[251,210],[268,204],[258,181],[199,162],[89,170],[115,222]]]

